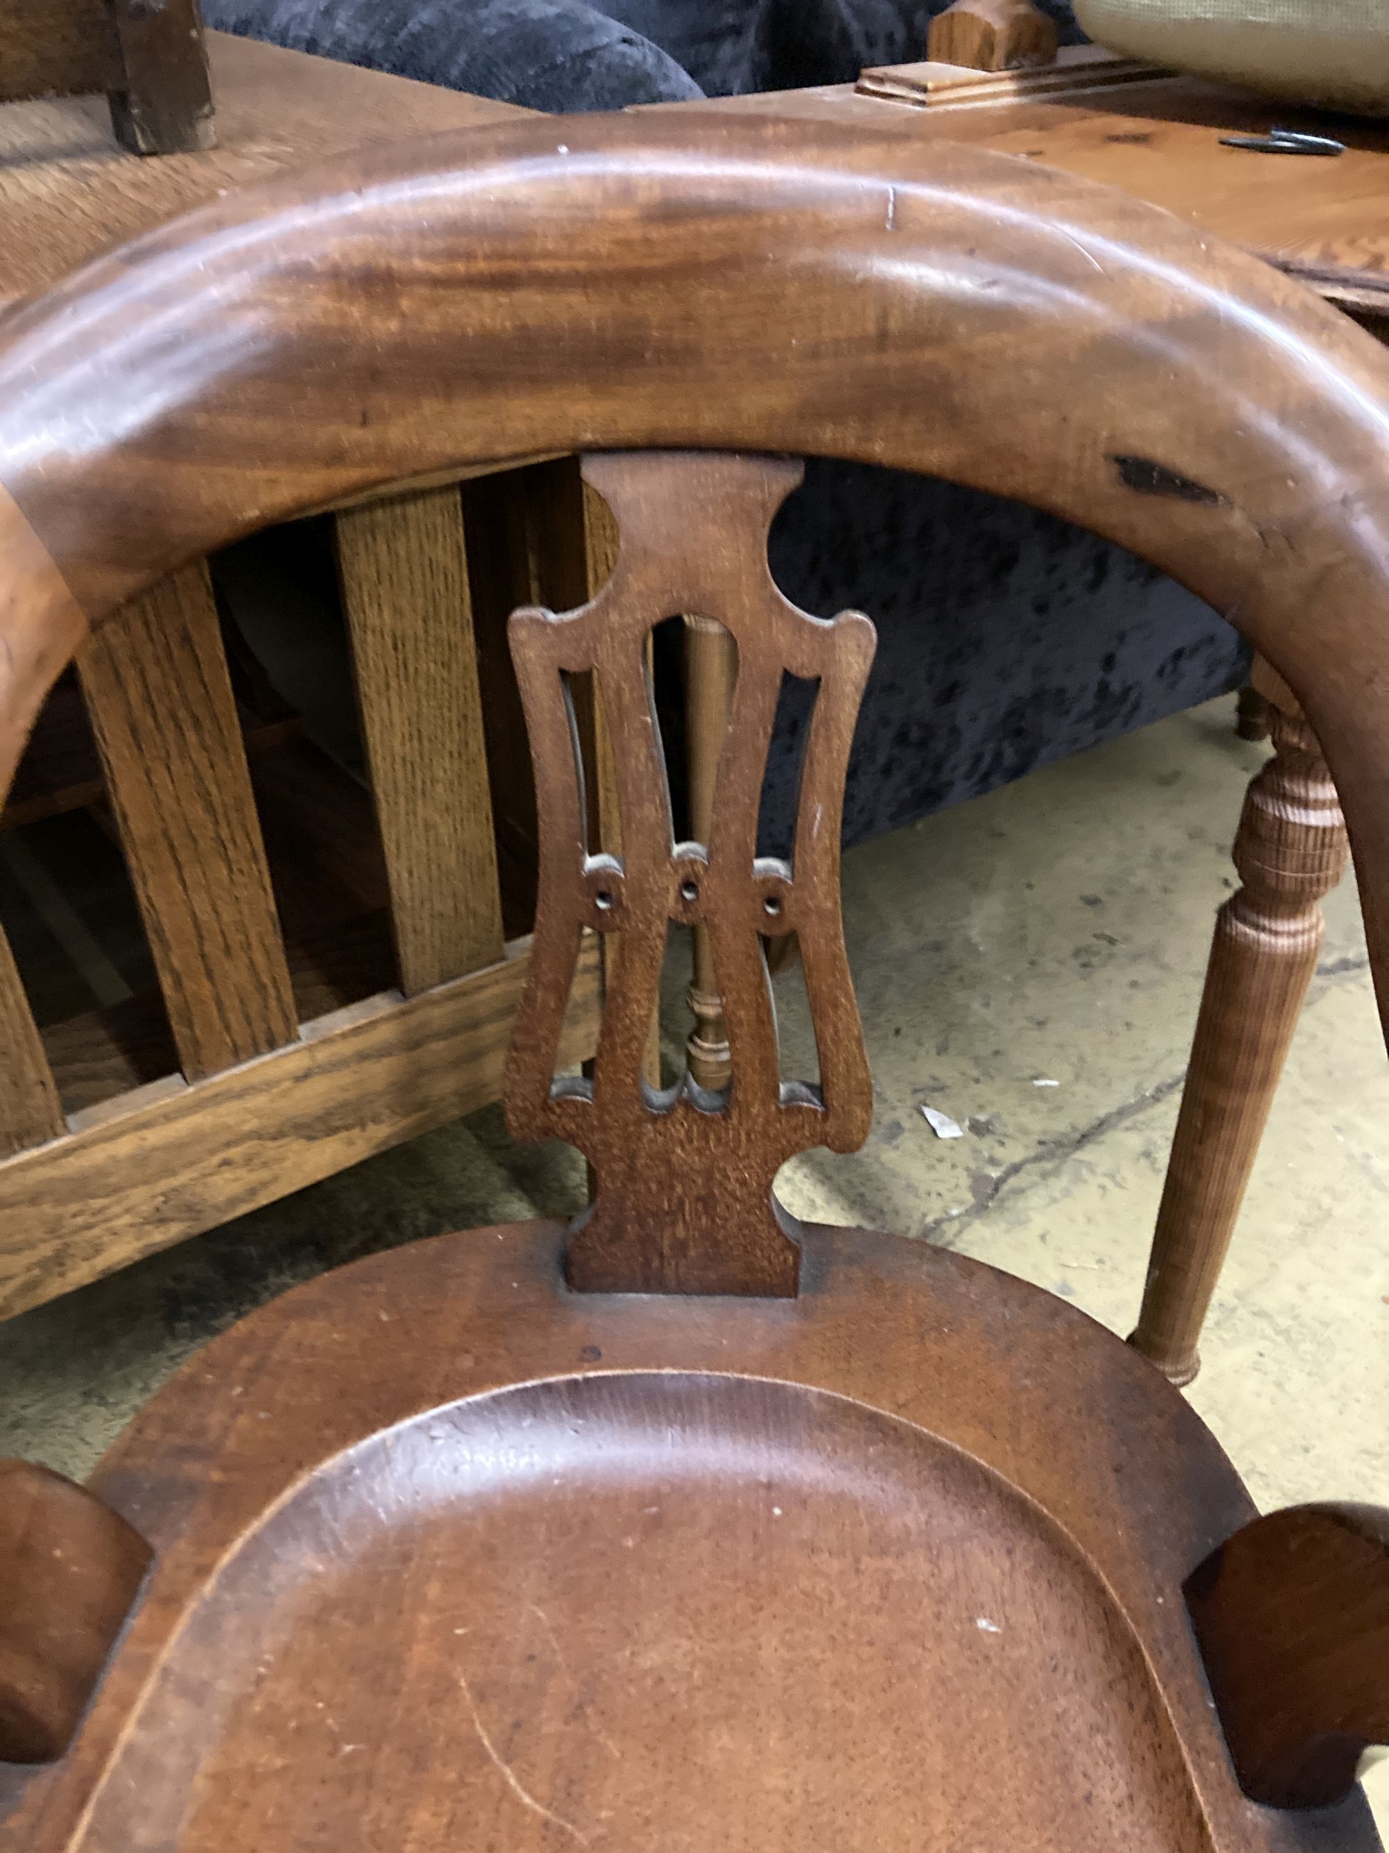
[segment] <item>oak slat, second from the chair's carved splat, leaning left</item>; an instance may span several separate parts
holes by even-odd
[[[294,1041],[207,567],[122,611],[78,667],[183,1073]]]

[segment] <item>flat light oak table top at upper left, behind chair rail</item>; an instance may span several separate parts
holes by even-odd
[[[528,113],[220,32],[207,54],[219,145],[206,154],[128,154],[106,96],[0,106],[0,306],[280,167]]]

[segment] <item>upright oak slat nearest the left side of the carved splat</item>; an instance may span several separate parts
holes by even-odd
[[[502,956],[457,485],[337,517],[357,702],[407,997]]]

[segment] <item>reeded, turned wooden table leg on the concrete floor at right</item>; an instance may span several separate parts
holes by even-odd
[[[1326,923],[1346,832],[1320,747],[1291,693],[1256,665],[1272,758],[1245,799],[1233,862],[1243,886],[1220,908],[1191,1067],[1158,1210],[1143,1312],[1130,1343],[1176,1384],[1230,1247]]]

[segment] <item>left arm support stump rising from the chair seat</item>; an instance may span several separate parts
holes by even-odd
[[[0,1460],[2,1762],[63,1755],[150,1555],[83,1486],[28,1460]]]

